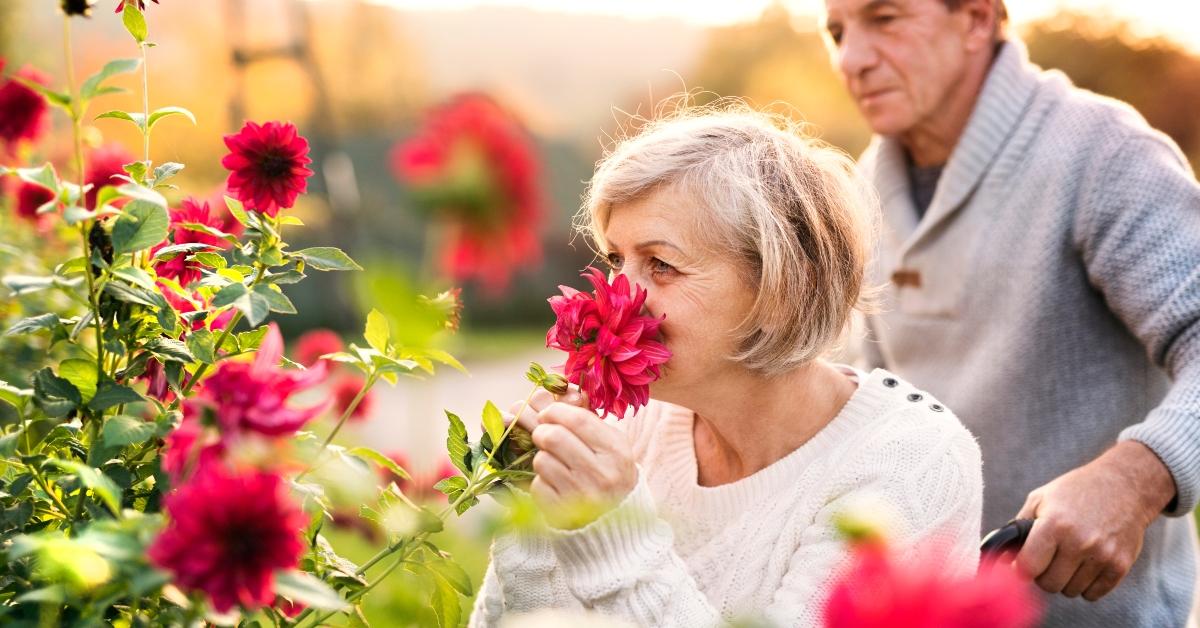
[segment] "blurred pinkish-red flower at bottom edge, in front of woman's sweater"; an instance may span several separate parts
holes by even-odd
[[[853,545],[853,563],[824,608],[826,628],[1032,628],[1038,598],[1008,564],[984,561],[952,579],[936,552],[898,564],[878,540]]]

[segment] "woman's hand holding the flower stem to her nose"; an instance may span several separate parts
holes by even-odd
[[[637,466],[625,432],[600,420],[577,389],[558,400],[539,390],[516,420],[538,445],[529,492],[552,526],[586,526],[634,490]]]

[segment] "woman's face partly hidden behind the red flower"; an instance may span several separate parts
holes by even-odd
[[[660,330],[671,349],[662,378],[650,384],[659,400],[689,405],[710,391],[722,372],[740,370],[727,358],[732,331],[754,303],[754,287],[730,251],[700,233],[707,210],[671,189],[613,205],[605,229],[608,264],[646,288],[646,307],[666,318]]]

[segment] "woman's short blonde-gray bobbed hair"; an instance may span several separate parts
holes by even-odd
[[[757,288],[732,360],[764,375],[802,366],[869,309],[877,199],[853,161],[804,125],[736,101],[642,121],[598,163],[577,226],[605,253],[612,207],[665,189],[707,209],[713,244]]]

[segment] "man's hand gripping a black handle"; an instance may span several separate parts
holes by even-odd
[[[1016,567],[1049,593],[1100,599],[1129,573],[1175,491],[1150,448],[1123,441],[1030,494],[1016,519],[1034,519],[1033,530]]]

